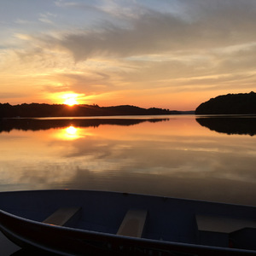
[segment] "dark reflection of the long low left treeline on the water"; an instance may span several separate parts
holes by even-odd
[[[143,122],[161,122],[168,119],[0,119],[2,131],[40,131],[51,128],[98,127],[100,125],[138,125]]]

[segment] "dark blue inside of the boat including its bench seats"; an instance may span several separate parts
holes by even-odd
[[[256,249],[252,239],[256,236],[255,207],[77,190],[23,191],[15,197],[0,195],[0,199],[4,199],[3,211],[44,224],[157,241]]]

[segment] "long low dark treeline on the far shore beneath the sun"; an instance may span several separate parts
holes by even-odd
[[[98,105],[65,104],[20,104],[10,105],[0,103],[0,118],[32,118],[32,117],[68,117],[68,116],[114,116],[114,115],[160,115],[178,114],[179,111],[170,111],[162,108],[139,108],[130,105],[116,107],[99,107]]]

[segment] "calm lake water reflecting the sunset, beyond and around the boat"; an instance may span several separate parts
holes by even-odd
[[[0,143],[0,191],[100,189],[256,205],[256,116],[0,119]],[[26,254],[0,235],[1,255]]]

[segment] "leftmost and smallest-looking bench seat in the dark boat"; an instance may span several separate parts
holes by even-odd
[[[81,207],[63,207],[53,212],[43,223],[63,226],[70,222],[80,212]]]

